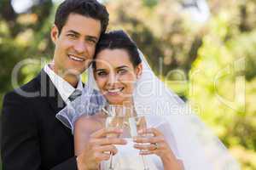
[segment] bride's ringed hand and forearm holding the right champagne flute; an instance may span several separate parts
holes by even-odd
[[[137,143],[134,147],[141,150],[140,155],[160,156],[165,169],[183,169],[182,163],[174,156],[164,135],[157,128],[143,129],[139,136],[134,138],[134,142]]]

